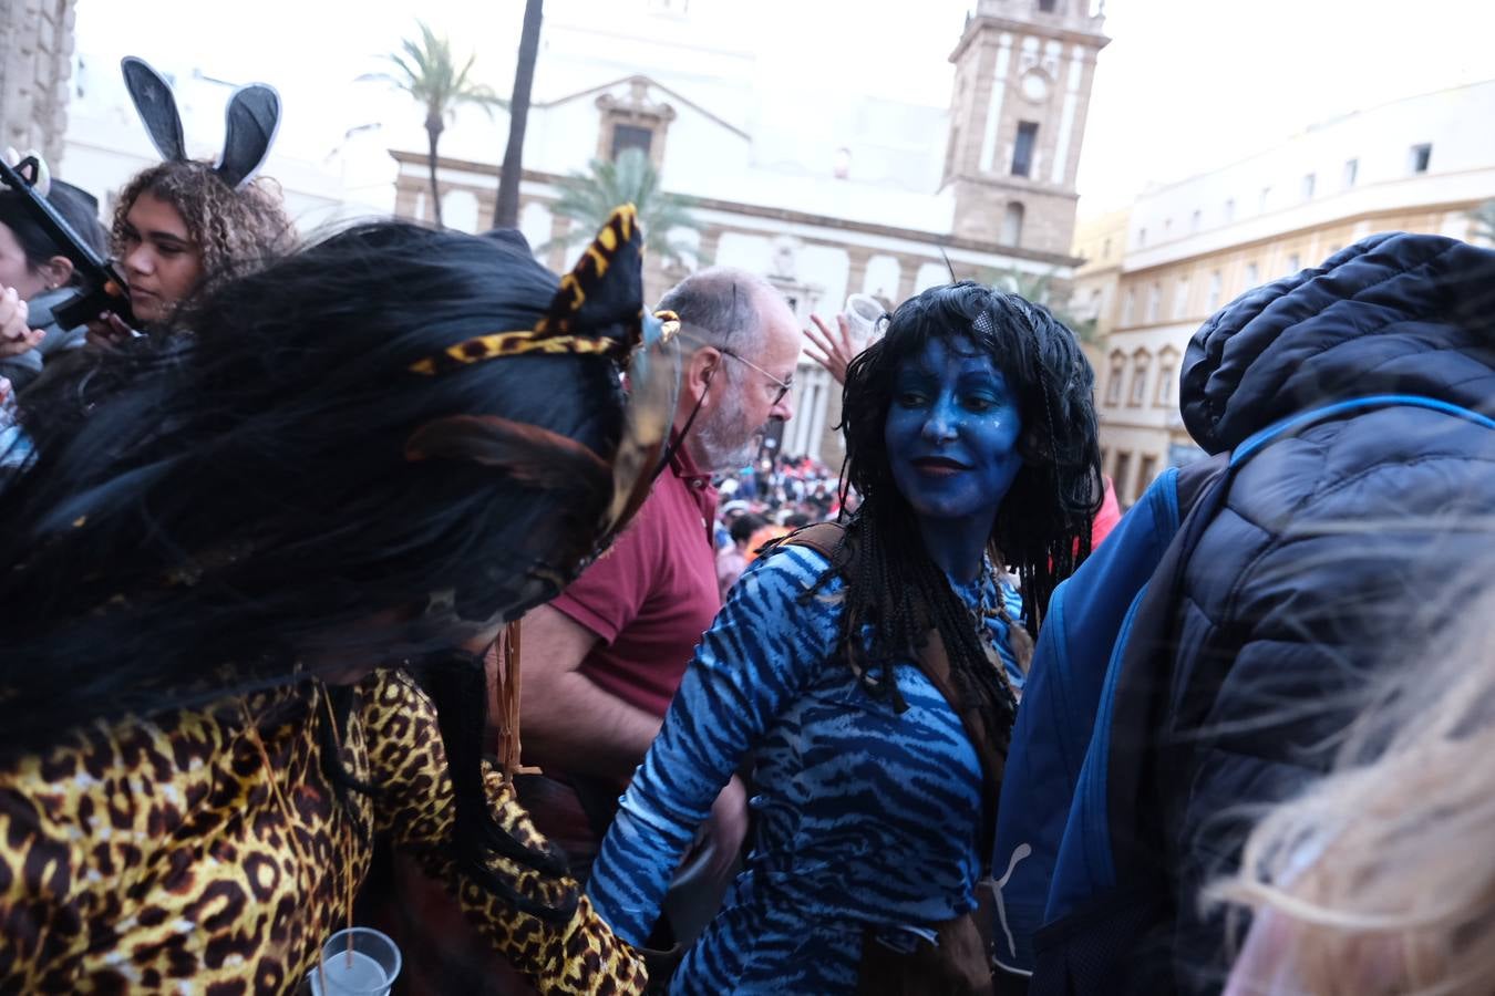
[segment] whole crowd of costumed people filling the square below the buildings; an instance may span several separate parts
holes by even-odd
[[[0,190],[0,992],[330,993],[354,924],[405,992],[1495,986],[1495,252],[1226,305],[1120,517],[1041,305],[849,351],[733,267],[646,308],[629,206],[565,276],[300,240],[141,66],[108,231]],[[36,199],[129,314],[54,320]],[[806,334],[840,469],[764,457]]]

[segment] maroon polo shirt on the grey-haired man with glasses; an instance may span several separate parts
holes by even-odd
[[[623,702],[664,717],[722,599],[710,523],[716,488],[676,451],[638,515],[550,605],[601,644],[582,673]]]

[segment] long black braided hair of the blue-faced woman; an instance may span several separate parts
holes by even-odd
[[[861,505],[845,518],[843,547],[825,575],[842,573],[846,582],[839,653],[872,694],[901,708],[893,664],[915,656],[937,630],[957,691],[979,709],[988,742],[1005,751],[1015,697],[988,662],[966,603],[924,550],[884,442],[897,370],[931,340],[990,355],[1023,421],[1023,467],[988,542],[993,561],[1015,569],[1021,581],[1027,629],[1009,626],[1020,660],[1032,653],[1054,588],[1090,553],[1090,524],[1103,494],[1094,372],[1075,333],[1048,309],[970,281],[904,302],[887,334],[846,372],[842,506],[852,488]]]

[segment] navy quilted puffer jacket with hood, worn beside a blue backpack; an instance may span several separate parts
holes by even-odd
[[[1235,448],[1289,415],[1417,394],[1495,415],[1495,252],[1372,236],[1253,290],[1195,336],[1181,403]],[[1495,570],[1495,430],[1389,406],[1319,424],[1247,463],[1184,572],[1159,730],[1177,871],[1181,992],[1217,992],[1226,942],[1199,888],[1236,860],[1251,803],[1332,760],[1377,667],[1417,667]]]

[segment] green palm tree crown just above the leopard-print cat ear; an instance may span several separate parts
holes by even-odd
[[[613,208],[631,203],[638,211],[647,252],[667,263],[685,263],[685,257],[697,255],[694,248],[670,239],[676,228],[701,228],[701,222],[691,215],[694,202],[659,190],[659,172],[641,149],[625,149],[613,161],[592,160],[586,173],[571,173],[558,185],[561,197],[550,205],[550,212],[577,224],[543,245],[541,251],[589,240],[607,222]]]

